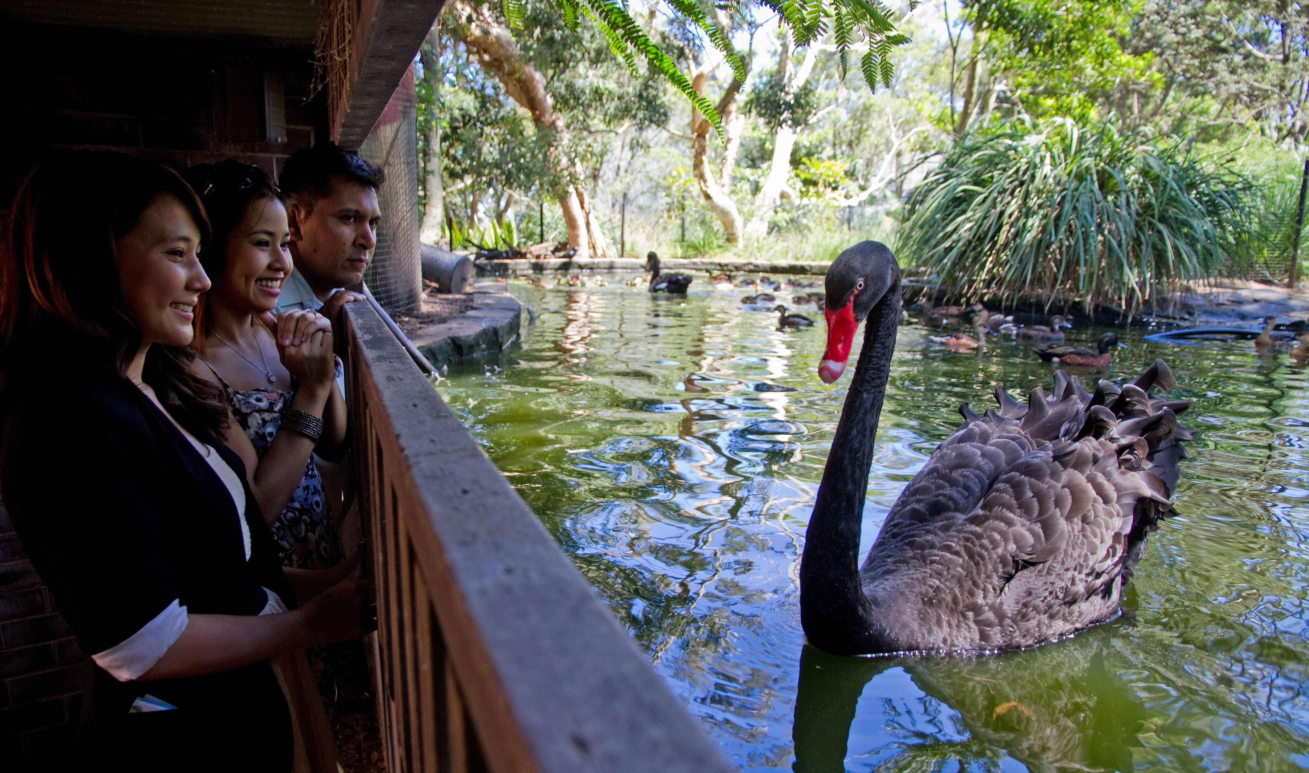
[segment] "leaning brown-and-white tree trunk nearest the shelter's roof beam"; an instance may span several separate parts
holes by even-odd
[[[486,8],[467,0],[452,0],[446,8],[454,17],[450,33],[469,48],[482,69],[500,81],[509,98],[531,115],[541,139],[547,143],[550,165],[565,180],[556,191],[556,200],[568,230],[568,246],[577,249],[575,256],[611,258],[609,239],[601,233],[600,220],[580,183],[577,161],[569,157],[560,141],[564,118],[555,110],[545,76],[524,60],[513,34]]]

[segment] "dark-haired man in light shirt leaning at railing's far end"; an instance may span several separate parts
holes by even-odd
[[[334,143],[322,143],[287,160],[279,182],[288,198],[295,268],[281,285],[278,311],[319,311],[339,339],[342,306],[364,298],[343,288],[363,281],[373,259],[382,218],[377,207],[382,171]]]

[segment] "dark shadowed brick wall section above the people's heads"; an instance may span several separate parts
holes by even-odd
[[[0,25],[0,207],[51,150],[105,148],[178,171],[237,157],[276,174],[327,136],[312,52],[105,29]]]

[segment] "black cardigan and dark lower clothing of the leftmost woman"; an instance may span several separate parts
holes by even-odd
[[[84,653],[118,645],[174,599],[191,615],[258,615],[268,587],[295,604],[245,466],[194,416],[170,409],[241,477],[249,561],[228,489],[131,381],[84,370],[7,403],[0,493]],[[289,768],[287,708],[267,662],[152,681],[94,675],[86,766]],[[178,710],[128,713],[147,693]]]

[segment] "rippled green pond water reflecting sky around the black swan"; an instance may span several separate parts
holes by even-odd
[[[740,768],[1309,766],[1309,385],[1284,354],[1119,331],[1130,348],[1107,378],[1165,357],[1173,394],[1195,399],[1177,515],[1122,616],[997,657],[836,658],[804,645],[797,590],[850,381],[816,374],[822,315],[779,331],[745,290],[703,277],[685,298],[622,279],[512,286],[539,315],[522,348],[452,368],[439,388]],[[861,555],[959,403],[980,409],[1001,382],[1049,388],[1026,347],[956,354],[929,332],[899,330]],[[770,386],[793,391],[757,391]]]

